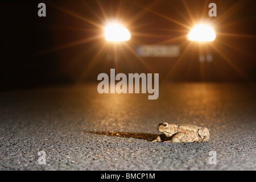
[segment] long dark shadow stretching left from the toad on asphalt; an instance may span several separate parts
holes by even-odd
[[[158,137],[157,134],[149,134],[149,133],[132,133],[132,132],[118,132],[118,131],[86,131],[87,133],[93,133],[97,135],[106,135],[106,136],[114,136],[114,137],[123,137],[123,138],[137,138],[144,139],[152,142],[152,140]]]

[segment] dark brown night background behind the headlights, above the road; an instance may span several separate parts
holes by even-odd
[[[38,16],[46,3],[47,16]],[[217,5],[217,17],[208,5]],[[256,80],[255,1],[1,1],[1,89],[97,81],[110,68],[123,73],[159,73],[160,81]],[[131,32],[126,46],[106,44],[102,27],[121,20]],[[214,22],[213,44],[192,45],[189,30],[201,18]],[[102,27],[98,27],[100,25]],[[96,38],[97,37],[97,38]],[[88,41],[83,41],[88,40]],[[177,44],[179,58],[141,58],[141,44]],[[201,47],[201,48],[200,48]],[[117,49],[117,60],[111,57]],[[200,63],[199,50],[213,55]],[[110,57],[109,57],[110,56]]]

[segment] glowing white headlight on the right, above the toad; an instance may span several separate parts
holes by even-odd
[[[207,24],[197,24],[188,34],[188,39],[197,42],[211,42],[216,38],[212,27]]]

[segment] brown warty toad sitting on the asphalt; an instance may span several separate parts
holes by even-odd
[[[206,142],[210,138],[209,130],[195,125],[172,125],[168,123],[159,123],[158,131],[163,135],[152,142]]]

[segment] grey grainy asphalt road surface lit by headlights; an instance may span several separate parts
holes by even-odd
[[[97,83],[0,92],[0,169],[255,170],[255,93],[250,84],[164,82],[158,100],[99,94]],[[210,140],[151,142],[163,121],[207,127]]]

